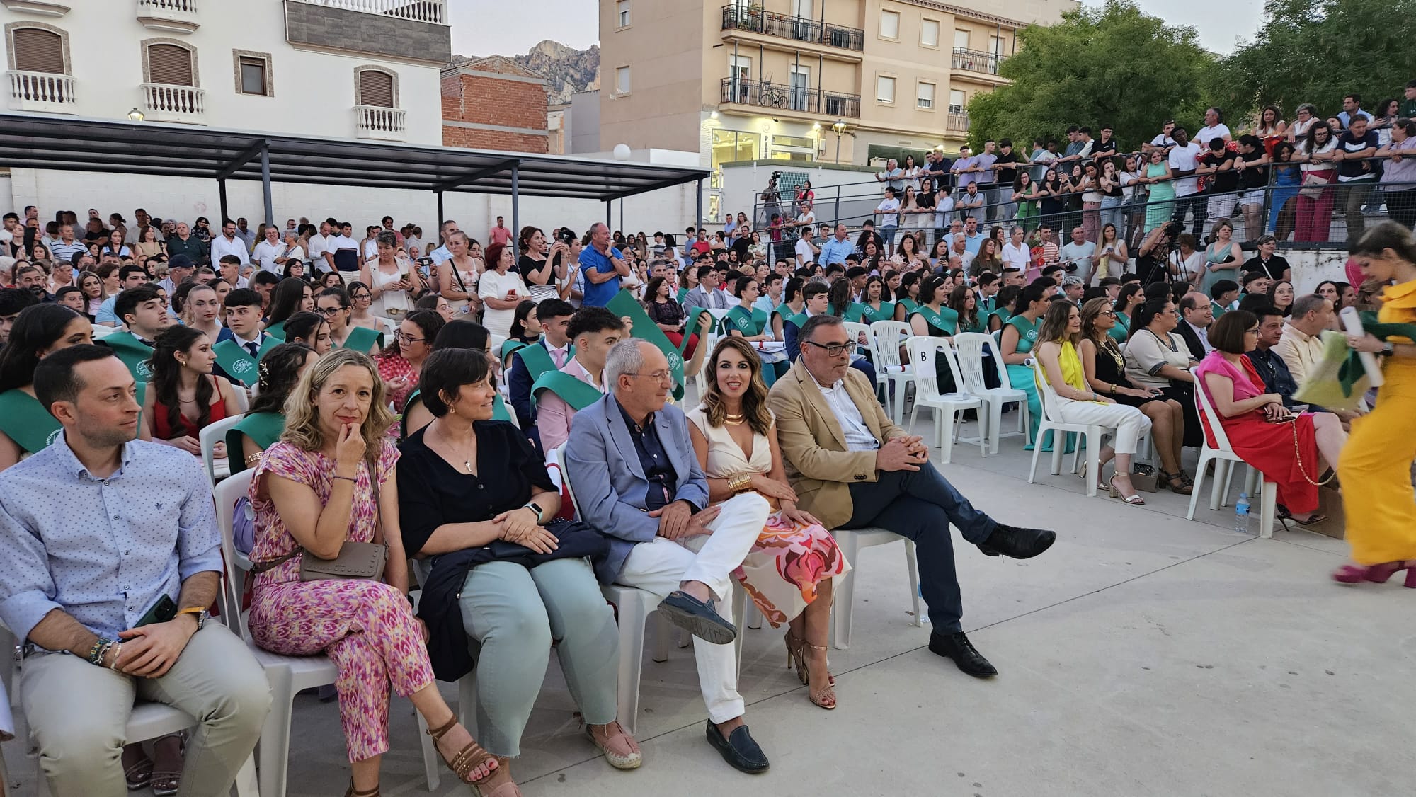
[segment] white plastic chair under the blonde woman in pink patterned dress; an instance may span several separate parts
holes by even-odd
[[[248,467],[217,484],[217,527],[221,529],[221,555],[225,559],[225,587],[222,590],[222,617],[227,627],[245,640],[246,647],[265,670],[266,681],[270,684],[270,713],[266,715],[265,726],[261,729],[261,743],[256,747],[259,760],[261,797],[283,797],[286,774],[290,767],[290,723],[295,715],[295,695],[303,689],[327,687],[336,681],[338,671],[327,655],[280,655],[261,648],[251,640],[246,627],[246,613],[241,610],[241,593],[245,583],[245,570],[251,562],[236,551],[234,538],[235,504],[236,498],[251,488],[251,477],[255,469]],[[419,732],[426,729],[422,715],[418,716]],[[432,743],[432,738],[419,733],[423,752],[423,773],[428,779],[428,790],[435,791],[439,786],[439,757]]]

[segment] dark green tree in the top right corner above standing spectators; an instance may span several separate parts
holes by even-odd
[[[1233,119],[1277,105],[1293,123],[1304,102],[1332,116],[1352,92],[1374,110],[1416,78],[1406,38],[1416,0],[1267,0],[1263,10],[1259,33],[1216,71],[1214,95]]]

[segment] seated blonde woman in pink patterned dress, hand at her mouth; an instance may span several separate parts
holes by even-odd
[[[300,377],[285,413],[285,433],[266,449],[251,481],[256,512],[251,561],[259,570],[251,636],[273,653],[324,653],[338,668],[334,687],[353,769],[346,797],[378,794],[391,687],[412,699],[459,779],[487,779],[497,764],[438,692],[406,597],[398,449],[384,435],[392,418],[374,361],[347,348],[333,351]],[[300,580],[306,551],[333,559],[346,542],[387,544],[387,583]]]

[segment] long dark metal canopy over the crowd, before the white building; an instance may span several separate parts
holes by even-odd
[[[0,166],[205,177],[217,181],[222,217],[227,180],[261,181],[268,224],[272,183],[430,191],[439,222],[445,191],[510,195],[515,224],[520,197],[595,200],[609,218],[615,200],[697,181],[701,221],[708,177],[705,168],[617,160],[18,113],[0,113]]]

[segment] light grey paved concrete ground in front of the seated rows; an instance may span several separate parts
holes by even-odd
[[[922,420],[922,430],[923,430]],[[969,426],[971,430],[971,425]],[[966,430],[966,435],[970,432]],[[1192,461],[1191,461],[1192,464]],[[728,769],[704,740],[692,655],[644,661],[644,767],[612,770],[576,733],[559,668],[514,772],[528,797],[930,794],[1385,796],[1416,766],[1416,593],[1328,580],[1345,545],[1279,531],[1232,531],[1232,510],[1147,493],[1146,507],[1085,495],[1073,476],[1027,484],[1017,437],[995,457],[956,446],[944,474],[1007,522],[1049,527],[1058,544],[1028,562],[959,548],[964,626],[1000,670],[976,681],[930,654],[910,623],[902,546],[855,562],[855,630],[831,651],[840,708],[806,699],[783,668],[780,631],[746,631],[741,678],[767,774]],[[1238,481],[1238,480],[1236,480]],[[1238,484],[1235,487],[1238,490]],[[957,537],[954,538],[959,539]],[[653,626],[651,626],[653,629]],[[456,689],[443,688],[449,702]],[[416,725],[394,705],[384,794],[422,794]],[[11,783],[33,764],[6,745]],[[341,794],[347,763],[333,704],[300,696],[292,796]],[[464,794],[443,770],[438,794]]]

